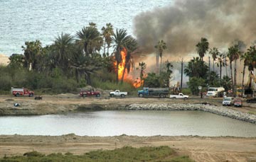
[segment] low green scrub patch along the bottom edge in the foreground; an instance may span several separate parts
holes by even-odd
[[[1,162],[7,161],[182,161],[191,162],[188,156],[177,156],[176,152],[168,146],[141,147],[139,149],[125,146],[111,151],[90,151],[83,155],[49,154],[44,155],[36,151],[25,153],[23,156],[0,158]]]

